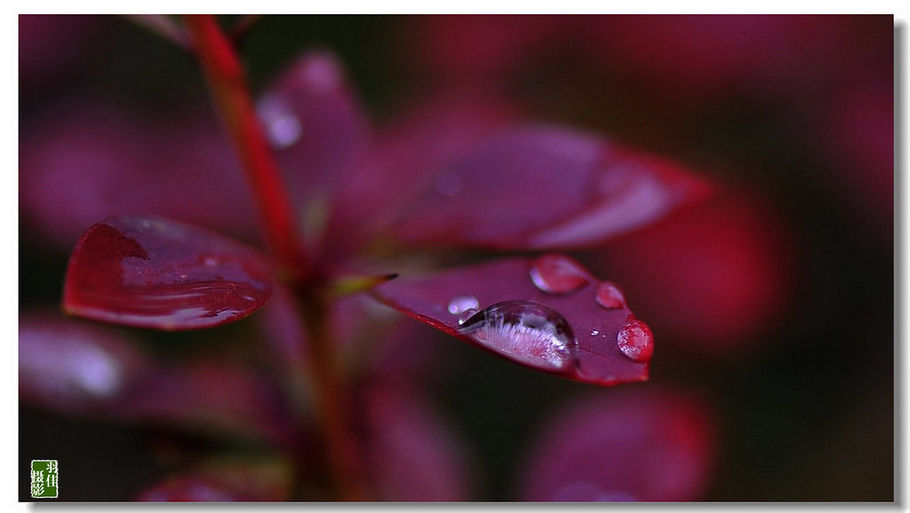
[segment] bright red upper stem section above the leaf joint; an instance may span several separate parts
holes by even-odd
[[[253,186],[268,244],[282,273],[292,281],[302,280],[310,267],[308,251],[298,236],[296,216],[259,124],[243,65],[214,15],[187,15],[185,20],[217,113]]]

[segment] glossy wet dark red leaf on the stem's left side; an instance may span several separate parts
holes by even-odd
[[[165,219],[118,216],[79,239],[63,306],[116,324],[193,329],[247,317],[271,287],[268,266],[251,248]]]

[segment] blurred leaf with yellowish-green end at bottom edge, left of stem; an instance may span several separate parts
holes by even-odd
[[[291,468],[279,458],[207,460],[144,488],[142,502],[283,502],[291,499]]]

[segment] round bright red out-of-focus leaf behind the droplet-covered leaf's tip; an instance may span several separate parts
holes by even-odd
[[[766,199],[726,191],[591,252],[666,343],[714,356],[763,340],[801,290],[802,246]]]

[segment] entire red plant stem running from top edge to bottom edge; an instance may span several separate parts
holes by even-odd
[[[269,242],[283,267],[282,277],[294,286],[308,330],[308,371],[319,414],[324,458],[333,492],[339,500],[369,496],[359,468],[357,439],[351,430],[347,387],[339,372],[338,352],[329,328],[330,299],[319,273],[312,268],[298,236],[290,200],[268,141],[259,125],[237,52],[213,15],[187,15],[193,41],[217,112],[226,126],[253,185]],[[303,465],[312,462],[303,462]]]

